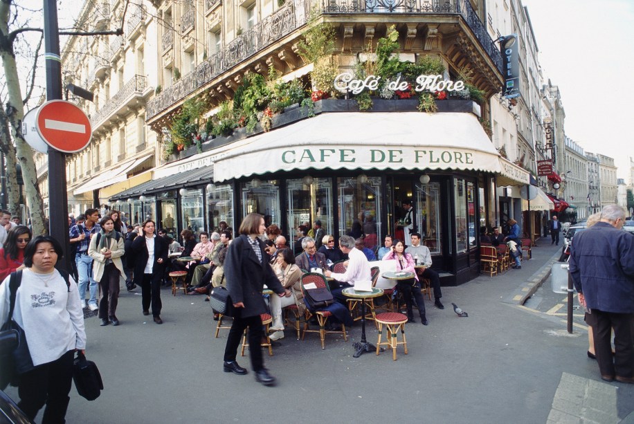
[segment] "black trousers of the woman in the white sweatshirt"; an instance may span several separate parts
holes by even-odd
[[[17,404],[31,420],[46,404],[42,424],[66,423],[66,409],[69,407],[69,393],[73,380],[73,356],[68,351],[53,362],[38,365],[20,376]]]

